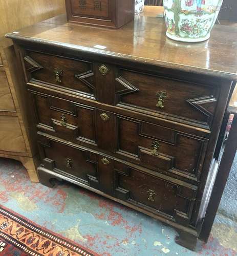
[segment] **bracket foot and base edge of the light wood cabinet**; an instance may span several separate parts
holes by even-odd
[[[10,158],[21,162],[24,167],[27,169],[28,175],[32,182],[39,182],[37,175],[37,166],[39,165],[39,156],[36,155],[34,157],[25,157],[25,156],[14,156],[14,155],[6,155],[0,154],[0,157]]]

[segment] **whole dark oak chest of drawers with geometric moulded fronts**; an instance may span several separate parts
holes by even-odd
[[[111,31],[59,16],[8,37],[25,74],[40,182],[67,180],[142,211],[194,249],[209,236],[236,51],[222,26],[191,47],[164,28],[148,17]]]

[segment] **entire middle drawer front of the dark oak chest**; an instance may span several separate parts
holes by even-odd
[[[39,131],[110,153],[160,173],[198,181],[208,139],[36,91],[30,92]]]

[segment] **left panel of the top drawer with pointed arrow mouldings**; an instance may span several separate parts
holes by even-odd
[[[67,90],[83,97],[95,98],[92,62],[26,51],[24,63],[28,81],[44,83],[62,92]]]

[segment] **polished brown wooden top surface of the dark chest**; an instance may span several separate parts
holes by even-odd
[[[164,20],[136,17],[119,30],[71,24],[60,15],[7,37],[32,44],[64,48],[73,54],[104,56],[158,68],[237,80],[237,28],[217,25],[205,42],[188,44],[165,36]],[[158,69],[157,68],[157,69]]]

